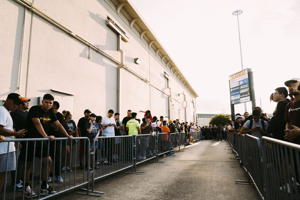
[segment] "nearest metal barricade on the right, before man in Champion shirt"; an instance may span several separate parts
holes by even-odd
[[[266,199],[300,199],[300,145],[261,140]]]

